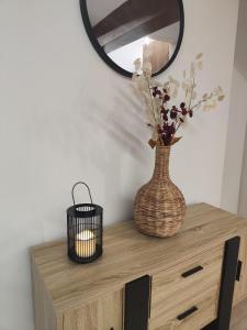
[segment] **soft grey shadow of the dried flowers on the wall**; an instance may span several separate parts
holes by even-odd
[[[119,109],[116,106],[105,108],[100,100],[93,99],[90,100],[91,111],[85,111],[83,118],[91,125],[93,123],[93,131],[103,129],[119,144],[120,153],[124,150],[142,164],[148,163],[147,146],[145,145],[148,140],[148,129],[145,127],[144,110],[138,111],[139,105],[124,90],[119,94],[114,92],[114,105],[121,105]],[[139,102],[139,100],[137,101]],[[92,145],[99,143],[99,136],[93,131],[90,135]],[[99,155],[100,160],[104,158],[108,145],[101,152],[103,157]]]

